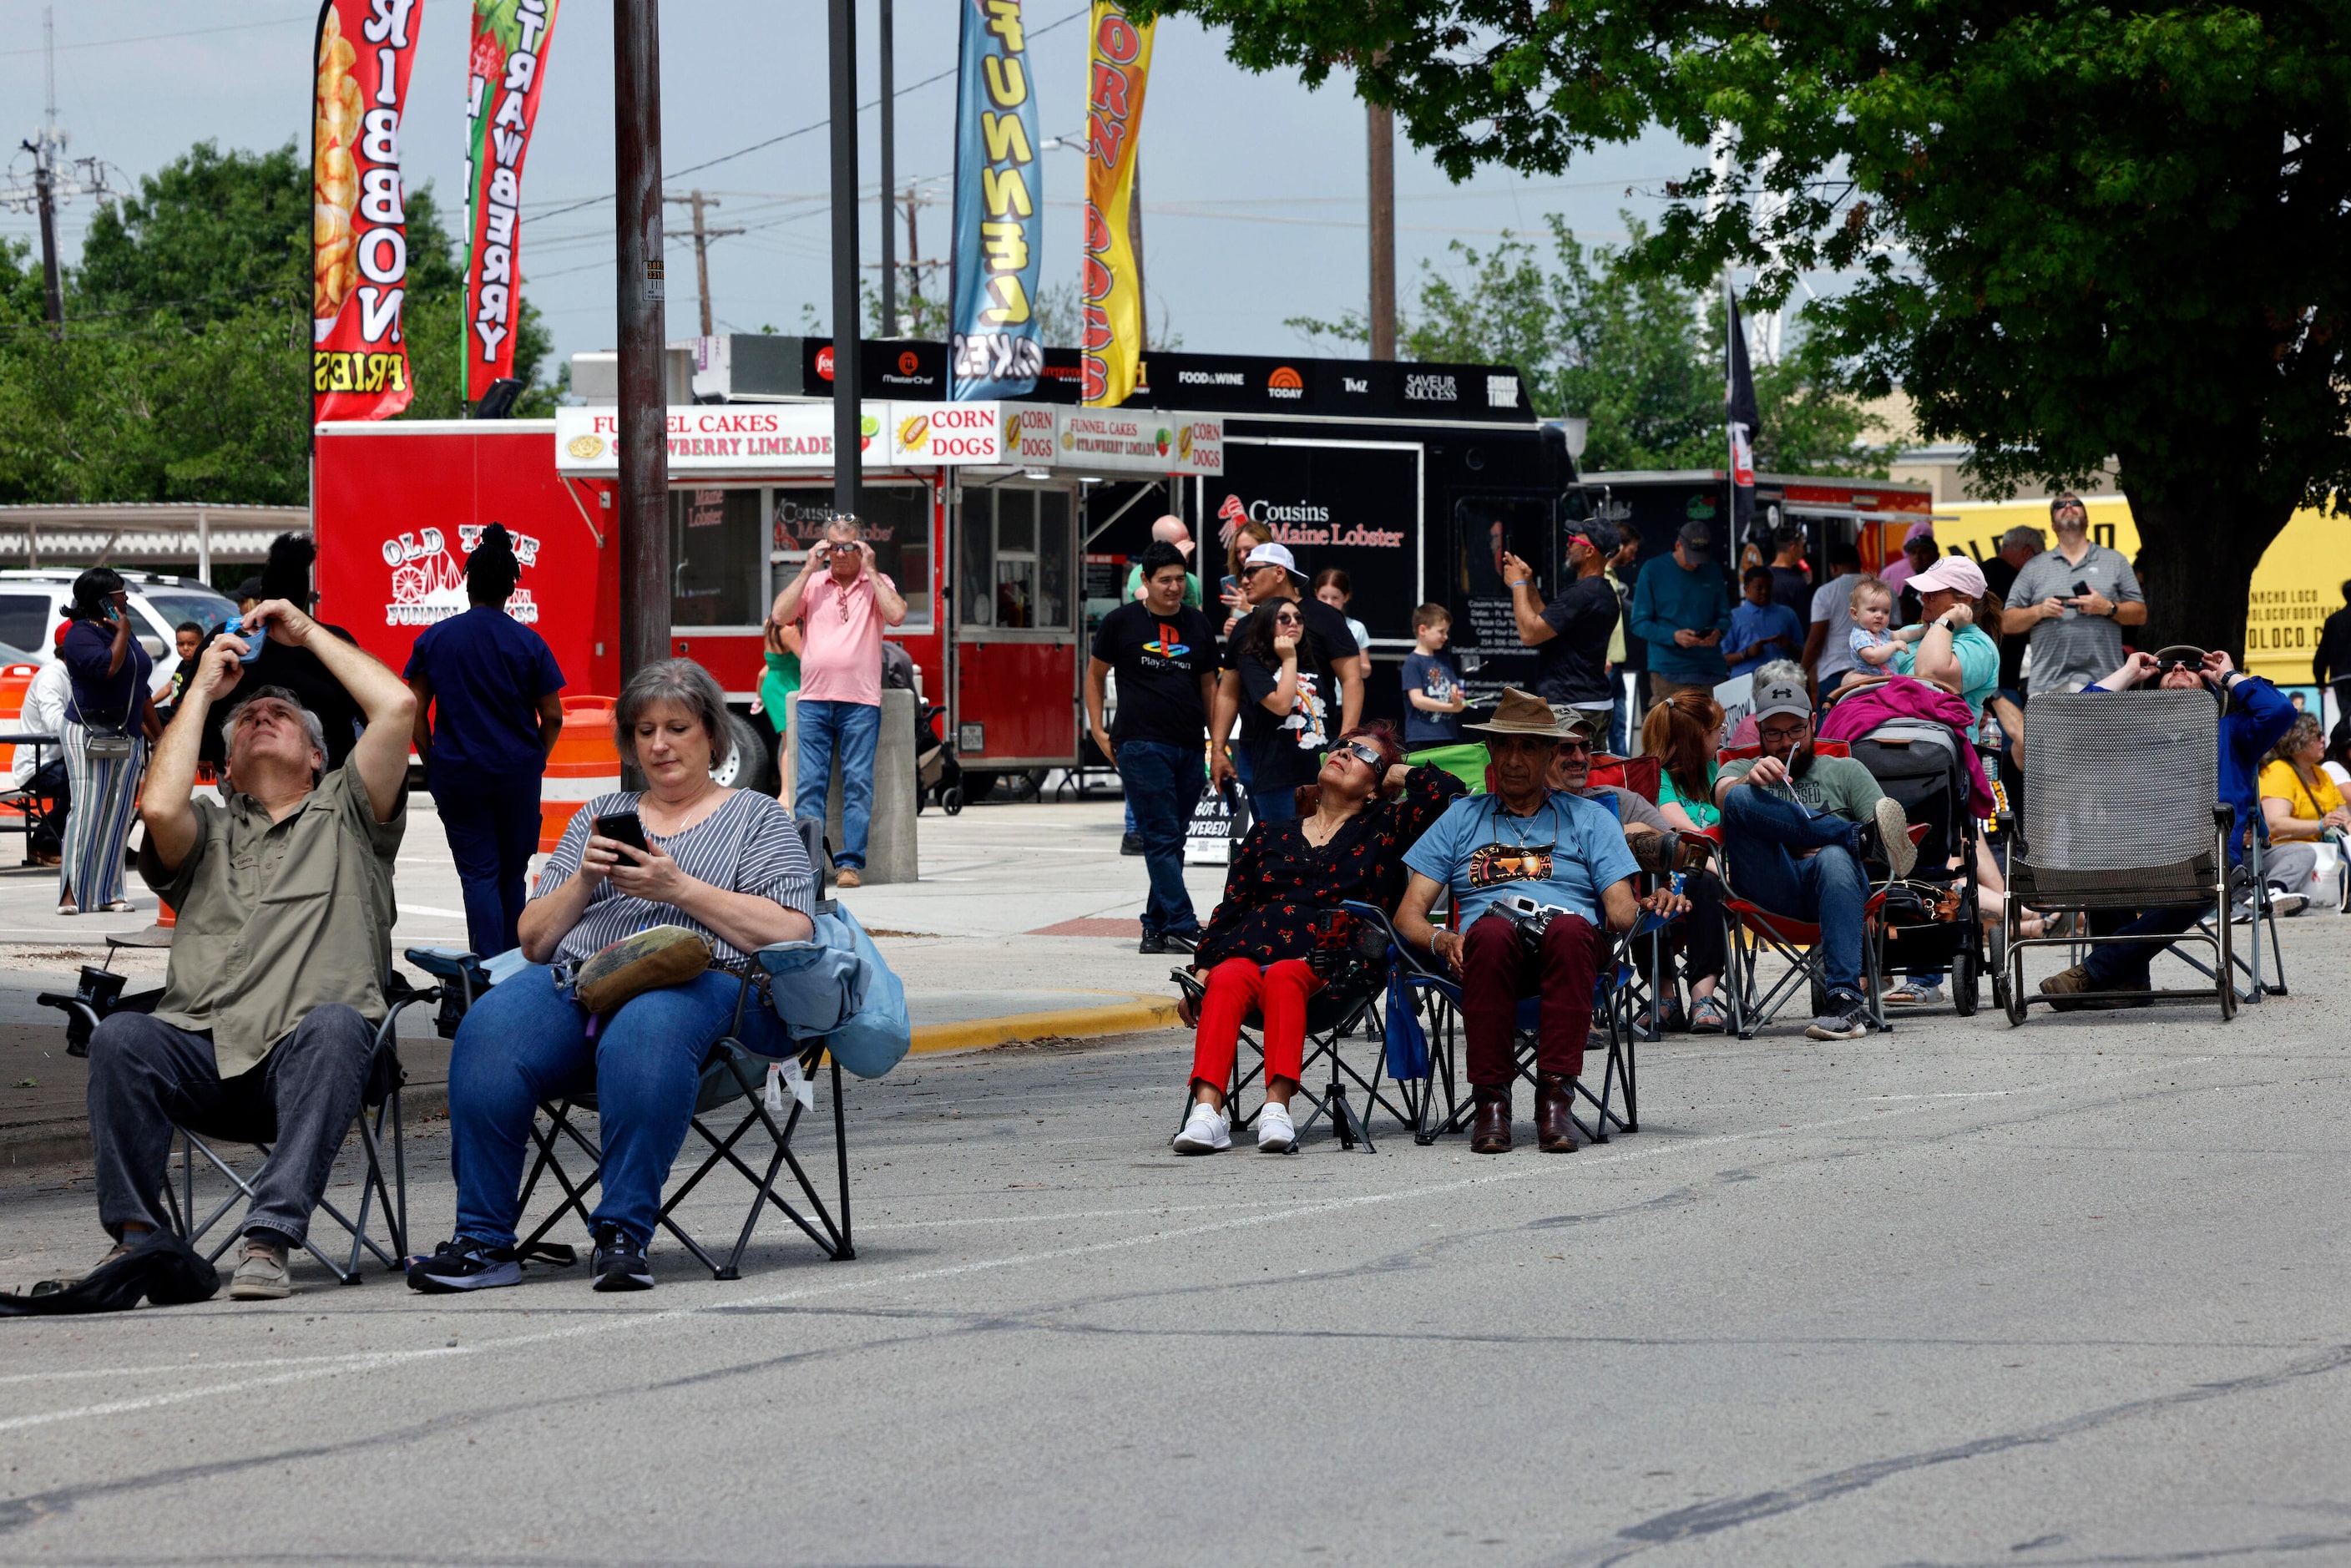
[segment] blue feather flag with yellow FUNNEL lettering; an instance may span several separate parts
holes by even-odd
[[[962,0],[959,9],[950,395],[1023,397],[1044,371],[1037,329],[1044,183],[1027,26],[1020,0]]]

